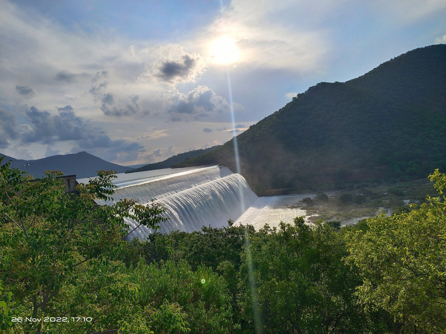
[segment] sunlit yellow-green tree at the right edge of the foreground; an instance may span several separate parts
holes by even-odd
[[[437,169],[429,179],[438,197],[347,233],[347,262],[363,279],[359,301],[366,311],[392,314],[396,333],[446,330],[446,175]]]

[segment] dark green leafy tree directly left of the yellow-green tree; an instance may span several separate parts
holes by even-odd
[[[238,297],[244,326],[256,323],[258,331],[269,333],[373,331],[356,305],[360,280],[342,261],[343,238],[329,224],[310,226],[297,217],[293,225],[265,225],[249,239]]]

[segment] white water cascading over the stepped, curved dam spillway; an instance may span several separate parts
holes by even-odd
[[[140,204],[155,200],[165,205],[164,216],[170,219],[161,223],[161,232],[193,232],[203,225],[223,227],[227,225],[227,220],[237,220],[258,198],[242,175],[224,166],[197,167],[115,184],[114,202],[134,198]],[[98,200],[97,203],[112,202]],[[130,231],[139,224],[133,220],[126,220],[126,223],[130,225]],[[143,239],[150,232],[149,228],[140,226],[126,239]]]

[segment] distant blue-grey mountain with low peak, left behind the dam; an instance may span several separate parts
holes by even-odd
[[[1,154],[0,154],[1,155]],[[45,170],[63,171],[65,175],[75,174],[78,179],[96,176],[96,171],[114,170],[118,173],[128,171],[129,167],[120,166],[116,163],[109,163],[87,152],[79,152],[75,154],[53,155],[37,160],[22,160],[6,157],[5,161],[12,159],[11,167],[19,168],[22,171],[29,171],[34,177],[45,174]],[[29,166],[24,166],[28,165]]]

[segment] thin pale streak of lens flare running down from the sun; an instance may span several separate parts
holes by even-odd
[[[232,87],[231,87],[231,76],[229,75],[229,67],[227,68],[227,89],[229,95],[229,107],[231,109],[231,122],[232,129],[235,130],[235,115],[234,115],[234,106],[232,103]],[[239,146],[237,144],[237,136],[234,135],[232,138],[234,142],[234,158],[235,158],[235,172],[240,174],[240,156],[239,156]],[[240,189],[240,201],[241,207],[245,211],[245,201],[242,192],[241,184],[239,184]],[[263,333],[262,324],[260,320],[259,307],[257,304],[257,293],[256,293],[256,285],[254,282],[254,266],[252,265],[252,254],[251,249],[249,248],[249,235],[248,228],[245,228],[245,248],[246,248],[246,260],[248,262],[248,280],[249,280],[249,288],[251,290],[252,297],[252,315],[254,317],[254,327],[256,329],[256,333]]]

